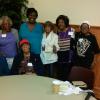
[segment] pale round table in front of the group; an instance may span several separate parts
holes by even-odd
[[[54,79],[36,75],[0,77],[0,100],[84,100],[86,94],[63,96],[52,92]]]

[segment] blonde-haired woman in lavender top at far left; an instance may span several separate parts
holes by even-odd
[[[0,19],[0,52],[6,57],[9,69],[12,66],[13,58],[17,54],[17,38],[11,31],[12,20],[8,16]]]

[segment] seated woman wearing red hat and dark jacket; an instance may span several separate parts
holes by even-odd
[[[30,43],[28,40],[21,40],[19,45],[21,52],[14,58],[11,74],[36,73],[38,75],[43,75],[41,60],[30,52]]]

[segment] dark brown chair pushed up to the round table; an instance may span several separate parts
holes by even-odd
[[[87,84],[88,89],[92,89],[94,83],[94,73],[90,69],[80,66],[73,66],[69,74],[68,80],[71,82],[83,81]]]

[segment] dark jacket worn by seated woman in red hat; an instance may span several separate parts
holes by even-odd
[[[12,68],[11,68],[12,75],[18,74],[19,68],[20,68],[19,66],[23,58],[24,58],[23,53],[19,53],[18,55],[15,56],[13,64],[12,64]],[[34,65],[34,70],[37,75],[44,75],[43,64],[41,62],[40,57],[36,56],[33,53],[30,53],[29,62],[31,62]]]

